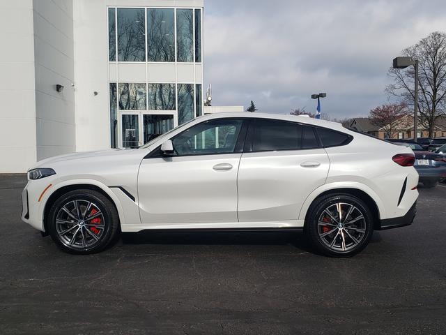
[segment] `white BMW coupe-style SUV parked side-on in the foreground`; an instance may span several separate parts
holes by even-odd
[[[409,148],[292,115],[198,117],[137,149],[48,158],[28,172],[22,220],[63,251],[95,253],[119,232],[302,231],[326,255],[410,225]]]

